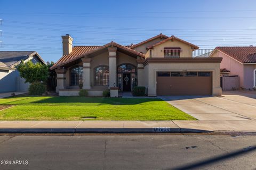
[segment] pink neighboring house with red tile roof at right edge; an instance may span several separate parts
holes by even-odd
[[[228,75],[238,75],[240,87],[256,86],[256,47],[216,47],[215,50],[223,58],[220,69],[230,71]]]

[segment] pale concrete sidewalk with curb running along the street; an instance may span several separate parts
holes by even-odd
[[[0,133],[256,132],[245,121],[0,121]]]

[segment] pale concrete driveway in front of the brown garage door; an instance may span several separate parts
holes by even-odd
[[[161,96],[201,121],[256,120],[256,91],[224,91],[213,96]]]

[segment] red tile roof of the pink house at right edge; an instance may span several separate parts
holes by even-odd
[[[256,63],[256,47],[216,47],[241,63]]]

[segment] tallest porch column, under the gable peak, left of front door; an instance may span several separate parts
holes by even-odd
[[[115,87],[116,84],[116,50],[117,47],[108,47],[109,52],[109,87]]]

